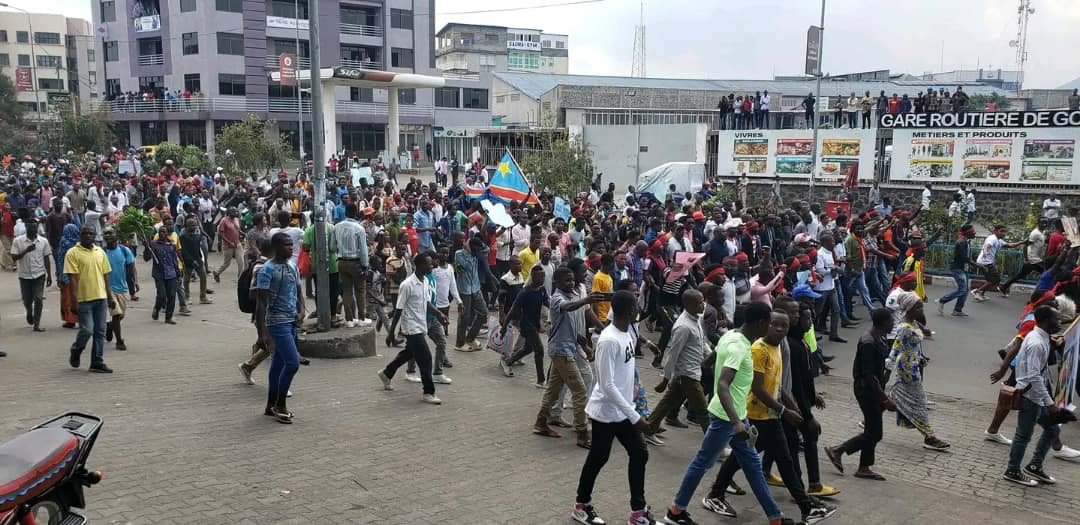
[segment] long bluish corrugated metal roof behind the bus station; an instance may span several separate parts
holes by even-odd
[[[746,93],[755,91],[770,91],[785,95],[811,93],[814,90],[813,80],[704,80],[704,79],[656,79],[656,78],[633,78],[633,77],[600,77],[592,75],[549,75],[534,72],[504,71],[496,72],[495,76],[514,86],[525,95],[538,99],[544,93],[554,90],[559,85],[584,85],[592,88],[626,88],[626,89],[661,89],[661,90],[691,90],[691,91],[727,91],[731,93]],[[928,88],[945,88],[955,91],[957,85],[962,85],[969,95],[998,93],[1002,96],[1008,92],[998,90],[989,85],[976,82],[934,82],[921,80],[890,80],[890,81],[833,81],[825,80],[821,83],[823,95],[847,95],[851,92],[862,94],[869,91],[877,95],[885,90],[887,94],[899,93],[901,95],[915,95]]]

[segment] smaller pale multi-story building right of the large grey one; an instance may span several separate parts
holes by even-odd
[[[446,88],[435,90],[435,156],[477,157],[476,132],[500,125],[491,113],[491,75],[566,73],[569,39],[538,29],[447,24],[435,33],[435,67]]]

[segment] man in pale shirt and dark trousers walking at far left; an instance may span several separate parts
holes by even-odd
[[[18,291],[26,309],[26,324],[33,326],[35,332],[44,332],[41,309],[44,307],[45,286],[53,285],[53,270],[49,262],[53,248],[46,239],[38,235],[37,217],[27,217],[24,226],[26,233],[12,241],[10,255],[18,272]]]

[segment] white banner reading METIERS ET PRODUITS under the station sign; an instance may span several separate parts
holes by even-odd
[[[1080,127],[895,130],[893,180],[1080,184]]]

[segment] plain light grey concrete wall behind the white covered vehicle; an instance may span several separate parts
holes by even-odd
[[[640,173],[665,162],[705,162],[705,124],[585,125],[581,130],[596,172],[604,174],[605,185],[615,183],[619,191],[635,185]]]

